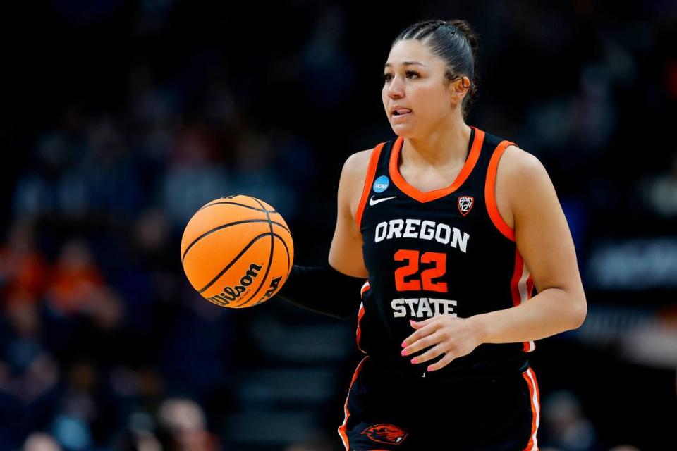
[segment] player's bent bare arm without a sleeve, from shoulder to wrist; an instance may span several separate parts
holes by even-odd
[[[499,190],[511,206],[516,245],[538,294],[519,306],[470,318],[480,342],[538,340],[578,328],[587,311],[585,292],[571,232],[547,171],[535,156],[508,147],[496,176]]]

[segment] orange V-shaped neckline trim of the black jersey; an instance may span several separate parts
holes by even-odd
[[[473,128],[475,129],[475,138],[472,140],[472,146],[470,147],[468,158],[465,159],[465,164],[463,164],[461,172],[456,175],[456,180],[453,180],[453,183],[448,187],[440,188],[439,190],[422,192],[409,185],[407,180],[404,180],[402,174],[400,173],[399,167],[400,151],[404,142],[403,137],[397,138],[393,146],[393,151],[391,152],[389,164],[390,178],[393,179],[395,185],[397,185],[397,187],[403,193],[407,194],[413,199],[416,199],[418,202],[430,202],[458,190],[458,187],[463,185],[463,182],[465,182],[465,180],[468,178],[472,172],[472,169],[475,168],[475,163],[477,163],[477,160],[480,159],[480,150],[482,150],[482,143],[484,142],[484,132],[478,128]]]

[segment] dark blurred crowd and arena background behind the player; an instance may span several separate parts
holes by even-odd
[[[248,194],[326,261],[343,161],[393,137],[390,43],[436,17],[480,34],[468,123],[544,163],[577,248],[587,321],[531,354],[542,450],[677,449],[676,1],[3,8],[0,450],[343,450],[356,321],[216,307],[181,234]]]

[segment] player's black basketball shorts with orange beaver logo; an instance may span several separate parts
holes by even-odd
[[[531,368],[480,381],[401,378],[362,359],[338,428],[347,451],[537,451]]]

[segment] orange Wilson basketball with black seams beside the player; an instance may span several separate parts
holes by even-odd
[[[190,218],[181,261],[190,285],[222,307],[267,301],[287,280],[294,245],[275,209],[249,196],[213,200]]]

